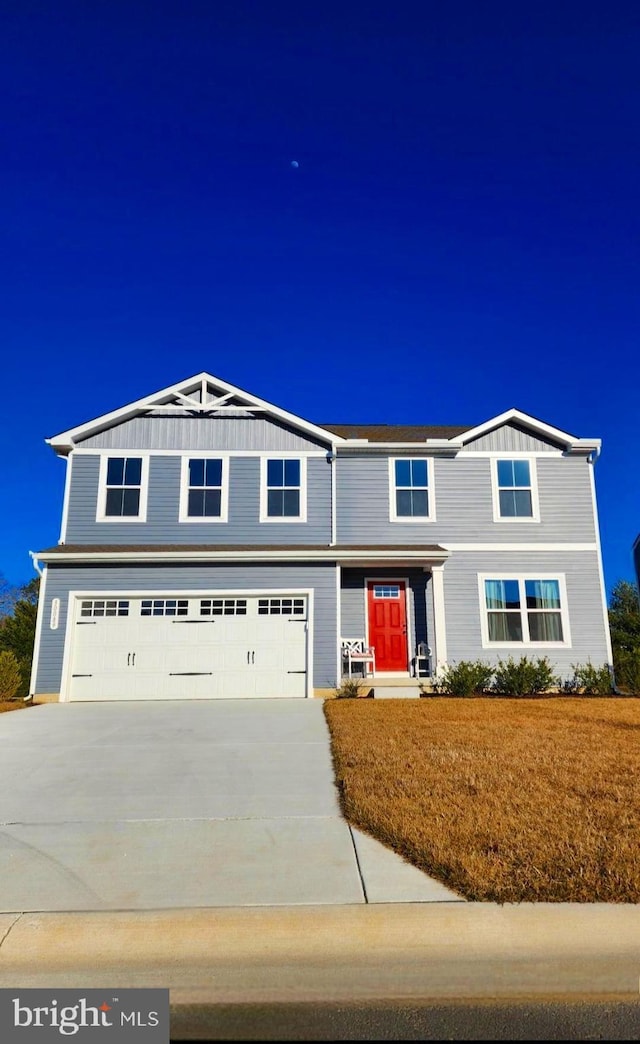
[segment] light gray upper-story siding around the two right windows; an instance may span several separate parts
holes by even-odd
[[[540,522],[494,522],[494,460],[471,454],[433,459],[435,521],[392,522],[388,455],[338,457],[337,541],[405,545],[595,541],[589,477],[592,466],[587,458],[540,456],[536,465]]]

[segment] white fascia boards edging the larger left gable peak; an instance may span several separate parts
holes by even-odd
[[[223,395],[238,396],[248,407],[255,406],[263,409],[272,417],[277,417],[279,420],[290,424],[291,427],[298,428],[300,431],[305,431],[307,434],[314,435],[316,438],[326,442],[328,445],[335,446],[337,443],[343,442],[339,435],[334,434],[332,431],[319,428],[317,425],[311,424],[310,421],[305,421],[303,418],[297,417],[294,413],[289,413],[285,409],[280,409],[279,406],[274,406],[272,403],[266,402],[264,399],[259,399],[257,396],[251,395],[251,393],[244,392],[242,388],[238,388],[234,384],[229,384],[227,381],[220,380],[219,377],[214,377],[212,374],[208,374],[206,372],[195,374],[194,377],[189,377],[186,380],[180,381],[177,384],[171,384],[169,387],[163,388],[161,392],[155,392],[152,395],[144,396],[143,399],[137,399],[135,402],[121,406],[119,409],[114,409],[109,413],[103,413],[101,417],[97,417],[92,421],[87,421],[85,424],[78,424],[75,428],[69,428],[67,431],[62,431],[60,434],[53,435],[51,438],[46,438],[45,442],[58,453],[69,452],[69,450],[75,445],[77,438],[87,438],[91,434],[103,431],[105,428],[112,427],[114,424],[122,423],[122,421],[125,421],[131,417],[136,417],[138,413],[151,409],[153,406],[166,405],[166,403],[174,396],[188,395],[190,392],[196,390],[198,385],[202,385],[203,382],[214,385],[214,387],[219,389],[219,392]]]

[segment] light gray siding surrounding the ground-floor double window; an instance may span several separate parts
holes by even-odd
[[[516,642],[499,648],[482,648],[478,574],[508,574],[514,578],[565,574],[567,609],[571,630],[570,648],[524,648]],[[596,551],[456,551],[445,565],[445,613],[447,658],[485,660],[514,656],[547,656],[563,677],[572,674],[571,664],[607,663],[607,632],[602,613]]]

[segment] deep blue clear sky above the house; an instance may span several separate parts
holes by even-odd
[[[0,10],[11,582],[58,537],[43,440],[202,370],[314,421],[600,436],[633,576],[637,3]]]

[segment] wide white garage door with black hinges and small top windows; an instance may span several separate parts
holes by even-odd
[[[75,599],[69,699],[305,696],[304,595]]]

